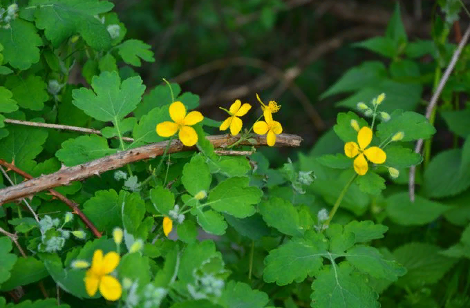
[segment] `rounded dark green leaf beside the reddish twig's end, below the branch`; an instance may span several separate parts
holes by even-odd
[[[115,227],[122,226],[120,196],[114,189],[97,191],[84,203],[83,213],[99,231],[111,234]]]

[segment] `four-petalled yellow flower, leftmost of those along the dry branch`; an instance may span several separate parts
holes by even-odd
[[[169,108],[173,122],[165,121],[157,125],[156,131],[162,137],[170,137],[177,132],[182,144],[194,146],[198,142],[198,134],[191,126],[203,121],[204,117],[199,111],[191,111],[186,114],[185,105],[182,102],[174,102]]]

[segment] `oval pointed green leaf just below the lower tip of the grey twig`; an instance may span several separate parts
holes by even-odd
[[[451,209],[451,206],[427,200],[420,195],[416,195],[415,202],[411,202],[407,192],[390,195],[386,202],[388,217],[402,226],[429,224]]]

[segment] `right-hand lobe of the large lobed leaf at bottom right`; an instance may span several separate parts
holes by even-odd
[[[395,261],[387,260],[374,247],[357,245],[346,252],[346,260],[359,271],[375,278],[396,281],[404,276],[406,268]]]

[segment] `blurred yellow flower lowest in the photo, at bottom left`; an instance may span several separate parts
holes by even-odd
[[[118,267],[119,260],[120,256],[115,251],[106,253],[104,258],[101,249],[95,251],[91,267],[85,276],[85,289],[89,296],[94,296],[100,288],[100,293],[106,300],[118,300],[121,297],[121,284],[118,279],[109,275]]]

